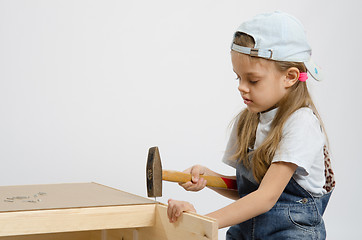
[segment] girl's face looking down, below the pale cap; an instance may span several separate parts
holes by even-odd
[[[258,113],[275,107],[288,91],[285,73],[274,63],[262,58],[231,51],[239,91],[249,111]]]

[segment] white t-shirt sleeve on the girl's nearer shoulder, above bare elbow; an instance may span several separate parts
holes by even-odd
[[[309,108],[293,113],[283,127],[282,140],[272,162],[296,164],[295,174],[308,176],[325,143],[318,118]]]

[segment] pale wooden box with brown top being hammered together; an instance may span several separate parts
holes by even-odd
[[[217,239],[217,222],[97,183],[0,187],[0,240]]]

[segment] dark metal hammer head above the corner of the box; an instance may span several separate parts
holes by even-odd
[[[162,196],[162,165],[158,147],[148,150],[146,165],[147,195],[148,197]]]

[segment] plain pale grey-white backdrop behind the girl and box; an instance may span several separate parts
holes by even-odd
[[[286,11],[305,26],[321,83],[337,187],[328,239],[357,239],[361,186],[361,1],[0,0],[0,185],[98,182],[146,197],[148,148],[163,168],[223,174],[228,125],[244,107],[234,30]],[[163,183],[198,213],[231,200]],[[224,239],[225,230],[219,231]]]

